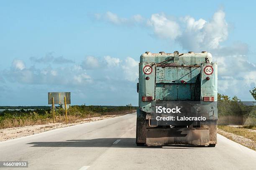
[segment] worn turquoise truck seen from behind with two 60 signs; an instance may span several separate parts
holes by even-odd
[[[210,52],[140,56],[136,145],[217,143],[218,65]]]

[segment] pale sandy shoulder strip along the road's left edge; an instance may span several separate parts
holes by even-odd
[[[124,115],[124,114],[121,114]],[[23,126],[23,127],[15,127],[15,128],[5,128],[0,129],[0,141],[20,138],[28,135],[33,135],[36,133],[45,132],[48,130],[53,130],[57,128],[64,128],[67,126],[78,125],[86,122],[93,122],[97,120],[109,119],[111,117],[121,116],[121,115],[104,115],[100,117],[90,117],[82,120],[78,120],[75,123],[48,123],[45,125],[31,125],[31,126]]]

